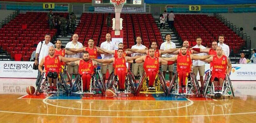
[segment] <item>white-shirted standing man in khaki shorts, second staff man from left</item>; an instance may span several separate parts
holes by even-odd
[[[73,34],[72,41],[67,43],[66,48],[75,48],[80,49],[83,47],[83,44],[78,42],[79,36],[78,34]],[[66,57],[73,57],[73,58],[81,58],[81,53],[73,54],[73,55],[66,55]],[[72,79],[72,75],[75,74],[75,77],[78,75],[78,65],[77,66],[67,66],[68,72],[70,74],[70,77]]]

